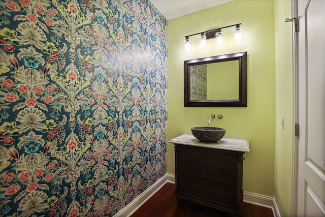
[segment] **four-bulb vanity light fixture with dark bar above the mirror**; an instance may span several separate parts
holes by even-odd
[[[200,34],[200,42],[199,42],[199,46],[200,48],[205,47],[206,45],[206,40],[207,39],[212,39],[215,38],[216,39],[216,44],[220,45],[223,43],[223,33],[221,31],[222,28],[228,28],[228,27],[232,27],[232,26],[236,26],[235,27],[235,35],[234,35],[234,39],[235,41],[240,41],[242,39],[242,27],[240,27],[241,23],[238,24],[234,24],[234,25],[229,25],[229,26],[224,26],[221,28],[215,28],[215,29],[211,29],[208,30],[206,32],[202,32],[202,33],[196,33],[196,34],[192,34],[189,36],[185,36],[185,50],[189,50],[190,49],[190,36],[195,36],[195,35],[199,35]]]

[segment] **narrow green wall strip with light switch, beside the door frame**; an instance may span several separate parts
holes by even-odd
[[[293,148],[293,85],[291,1],[275,0],[275,185],[274,197],[281,216],[291,213],[291,168]],[[284,116],[284,129],[281,117]]]

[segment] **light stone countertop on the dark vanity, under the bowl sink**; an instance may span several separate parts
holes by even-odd
[[[246,139],[222,138],[217,142],[201,142],[193,135],[183,134],[181,136],[169,140],[169,142],[182,145],[192,145],[206,148],[249,152],[249,143]]]

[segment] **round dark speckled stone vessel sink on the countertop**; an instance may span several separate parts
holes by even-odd
[[[194,127],[191,130],[193,136],[202,142],[216,142],[225,134],[225,129],[215,127]]]

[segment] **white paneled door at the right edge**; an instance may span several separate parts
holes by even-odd
[[[297,215],[325,216],[325,0],[297,0]],[[296,39],[297,40],[297,39]]]

